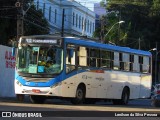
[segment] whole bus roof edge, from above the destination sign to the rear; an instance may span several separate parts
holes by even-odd
[[[83,45],[87,47],[95,47],[95,48],[107,49],[111,51],[152,56],[152,54],[149,51],[131,49],[129,47],[121,47],[121,46],[116,46],[116,45],[111,45],[111,44],[102,44],[100,42],[93,41],[92,39],[84,39],[84,38],[79,38],[79,37],[61,37],[59,35],[57,36],[55,35],[32,35],[32,36],[22,36],[21,38],[64,38],[67,42],[78,44],[78,45]]]

